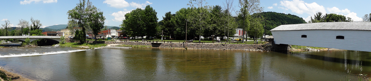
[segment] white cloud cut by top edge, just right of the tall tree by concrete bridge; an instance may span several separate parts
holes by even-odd
[[[110,7],[115,8],[124,8],[130,6],[129,3],[125,0],[105,0],[103,3],[107,3]]]

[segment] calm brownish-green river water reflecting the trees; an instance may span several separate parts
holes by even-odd
[[[2,47],[0,66],[37,81],[344,81],[371,74],[370,54]]]

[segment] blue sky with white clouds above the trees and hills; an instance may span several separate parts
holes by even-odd
[[[103,11],[105,25],[117,26],[122,24],[125,14],[136,8],[144,9],[150,5],[156,12],[158,21],[165,13],[174,14],[181,8],[190,7],[189,0],[90,0],[93,6]],[[226,0],[206,0],[209,6],[224,7]],[[42,28],[67,24],[67,11],[72,10],[79,0],[0,0],[0,24],[9,20],[12,27],[18,27],[19,20],[30,18],[40,20]],[[264,12],[272,11],[297,15],[303,20],[310,20],[318,12],[335,13],[350,17],[354,21],[362,21],[362,16],[370,14],[371,0],[260,0]],[[234,0],[234,10],[239,10],[238,0]],[[236,13],[232,13],[236,16]]]

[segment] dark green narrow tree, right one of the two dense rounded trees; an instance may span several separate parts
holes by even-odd
[[[151,36],[155,36],[157,33],[157,12],[150,6],[146,6],[144,9],[144,28],[147,39]]]

